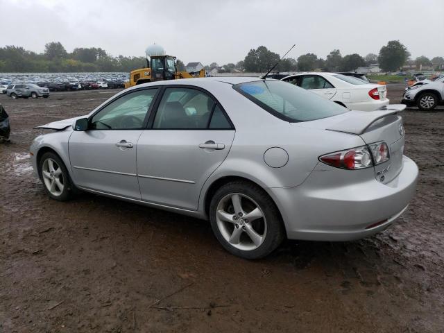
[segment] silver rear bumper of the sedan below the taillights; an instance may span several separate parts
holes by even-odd
[[[271,189],[289,239],[350,241],[384,230],[413,198],[418,167],[404,156],[402,171],[387,184],[374,178],[338,186],[332,176],[322,167],[299,187]]]

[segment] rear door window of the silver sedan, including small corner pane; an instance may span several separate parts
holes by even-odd
[[[192,88],[165,89],[155,114],[153,129],[206,128],[231,128],[230,122],[211,96]]]

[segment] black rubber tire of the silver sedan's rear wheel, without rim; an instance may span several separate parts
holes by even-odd
[[[250,199],[253,199],[257,207],[262,210],[264,219],[259,219],[259,221],[262,220],[262,223],[266,223],[265,238],[262,244],[253,250],[241,250],[234,247],[227,240],[225,240],[221,230],[219,230],[218,221],[216,219],[217,208],[218,205],[223,202],[224,198],[227,198],[227,196],[230,196],[230,194],[241,194],[247,196]],[[249,201],[248,199],[246,200]],[[285,238],[284,225],[282,223],[282,218],[280,216],[278,207],[276,207],[273,200],[263,189],[251,182],[238,180],[229,182],[228,184],[220,187],[212,197],[209,214],[214,235],[221,243],[223,248],[232,253],[232,255],[237,255],[238,257],[242,257],[244,259],[259,259],[266,257],[272,253],[273,250],[278,248]],[[247,214],[245,216],[247,216]]]

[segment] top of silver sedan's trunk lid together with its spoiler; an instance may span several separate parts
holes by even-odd
[[[380,110],[376,111],[350,111],[334,117],[314,121],[305,121],[301,123],[291,123],[291,125],[361,135],[365,133],[367,128],[375,123],[375,121],[378,121],[379,119],[387,117],[391,114],[401,112],[405,108],[406,105],[391,104],[386,105]]]

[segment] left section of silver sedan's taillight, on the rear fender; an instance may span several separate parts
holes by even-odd
[[[348,170],[365,169],[372,166],[372,159],[367,146],[323,155],[319,157],[319,160],[332,167]]]

